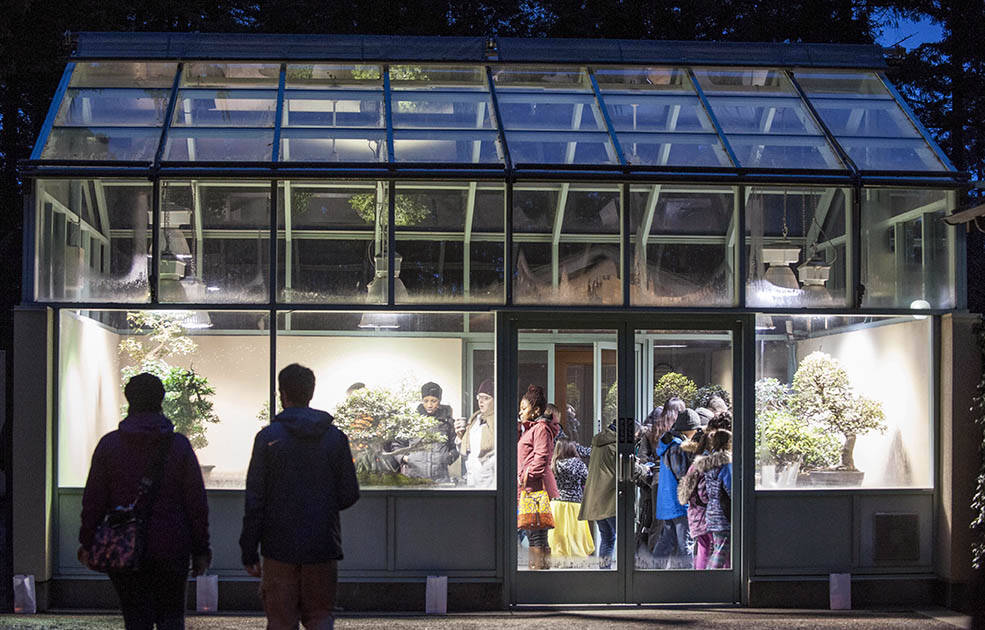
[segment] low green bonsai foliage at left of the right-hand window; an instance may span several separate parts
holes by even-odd
[[[803,468],[825,468],[838,463],[841,442],[823,428],[804,422],[784,408],[766,408],[756,414],[756,454],[760,462]]]

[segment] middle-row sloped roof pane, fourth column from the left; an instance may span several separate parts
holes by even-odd
[[[487,92],[394,92],[395,129],[493,129]]]

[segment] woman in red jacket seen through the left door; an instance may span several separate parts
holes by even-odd
[[[551,499],[560,496],[557,481],[551,471],[554,438],[561,425],[552,416],[544,416],[547,399],[544,388],[531,385],[520,399],[520,440],[516,445],[517,493],[547,491]],[[528,531],[530,559],[528,568],[551,568],[551,548],[547,544],[547,529]]]

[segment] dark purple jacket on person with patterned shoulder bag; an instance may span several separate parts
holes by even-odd
[[[158,439],[174,432],[159,413],[136,413],[104,435],[92,454],[82,495],[79,542],[92,544],[103,516],[137,496],[141,477],[157,452]],[[147,527],[147,557],[181,571],[190,554],[209,551],[209,506],[198,458],[188,438],[174,434]]]

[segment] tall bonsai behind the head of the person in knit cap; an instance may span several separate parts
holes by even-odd
[[[147,335],[130,335],[120,342],[119,352],[130,364],[120,370],[122,385],[142,372],[149,372],[164,384],[162,412],[174,423],[175,431],[183,434],[193,448],[202,448],[209,441],[205,436],[209,423],[219,422],[213,411],[215,395],[207,378],[193,368],[171,365],[168,359],[195,352],[198,344],[185,334],[182,322],[187,318],[180,312],[127,313],[127,323],[133,329],[148,329]],[[126,405],[123,407],[126,413]]]

